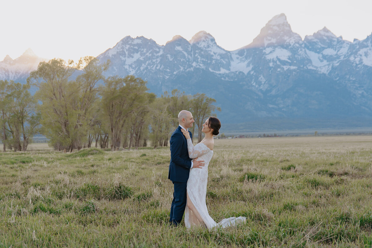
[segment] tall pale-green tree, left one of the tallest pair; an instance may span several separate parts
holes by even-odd
[[[55,149],[72,151],[76,115],[72,106],[76,97],[76,82],[69,78],[76,71],[73,61],[52,59],[41,62],[36,71],[31,72],[27,81],[39,90],[35,97],[41,101],[42,133]]]

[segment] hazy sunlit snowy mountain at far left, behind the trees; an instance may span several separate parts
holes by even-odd
[[[26,83],[31,71],[36,70],[39,63],[46,60],[38,57],[31,48],[14,60],[9,55],[6,55],[4,60],[0,61],[0,80],[14,80]]]

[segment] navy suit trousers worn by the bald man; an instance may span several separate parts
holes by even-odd
[[[170,207],[170,224],[177,226],[181,223],[183,213],[186,208],[186,188],[187,182],[175,182],[172,181],[174,186],[173,200]]]

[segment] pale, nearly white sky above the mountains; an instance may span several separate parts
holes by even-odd
[[[294,32],[326,26],[353,41],[372,33],[371,0],[0,0],[0,61],[31,48],[43,58],[97,56],[127,35],[165,45],[205,30],[226,50],[248,45],[275,15]]]

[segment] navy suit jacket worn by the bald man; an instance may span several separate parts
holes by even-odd
[[[190,137],[192,138],[192,134]],[[178,126],[170,136],[170,164],[168,179],[175,182],[187,182],[189,179],[191,158],[187,151],[187,141],[181,127]]]

